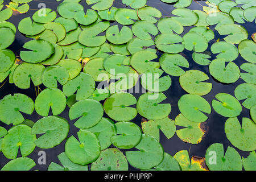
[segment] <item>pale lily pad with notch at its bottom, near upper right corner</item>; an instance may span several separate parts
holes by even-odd
[[[232,24],[234,23],[234,20],[231,16],[229,16],[226,13],[216,12],[216,13],[211,13],[207,16],[207,23],[210,26],[217,24],[215,29],[218,31],[218,28],[220,26],[222,26],[223,24]]]

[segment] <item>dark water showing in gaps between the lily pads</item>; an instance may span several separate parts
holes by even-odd
[[[59,2],[56,2],[53,0],[32,1],[29,3],[30,11],[28,11],[27,14],[13,15],[8,21],[13,23],[16,27],[18,27],[18,23],[20,22],[20,20],[23,18],[26,18],[27,16],[31,17],[35,13],[35,11],[38,9],[38,4],[42,3],[42,2],[46,3],[46,7],[50,8],[52,10],[56,10],[57,5],[59,5]],[[205,1],[197,1],[197,2],[199,2],[201,5],[205,5],[205,3],[204,3]],[[6,1],[5,3],[9,3],[9,1]],[[85,9],[90,7],[90,6],[86,5],[84,0],[82,2],[80,2],[80,4],[83,5],[85,7]],[[174,10],[173,5],[163,3],[160,0],[148,0],[147,5],[153,6],[156,9],[159,9],[162,12],[163,16],[171,16],[171,11]],[[115,0],[114,6],[118,7],[118,8],[126,7],[126,6],[122,5],[121,0]],[[200,6],[198,3],[196,3],[195,1],[193,1],[192,5],[189,6],[189,9],[203,10],[203,7]],[[116,23],[112,23],[112,24],[116,24]],[[245,27],[249,33],[248,39],[251,39],[250,35],[253,34],[253,32],[255,31],[254,22],[253,23],[246,22],[246,23],[242,24],[242,26]],[[184,32],[183,32],[183,34],[181,34],[181,36],[183,36],[185,33],[187,33],[190,30],[190,28],[191,27],[184,27]],[[211,26],[210,28],[212,30],[214,30],[214,26]],[[220,38],[220,39],[224,38],[224,36],[220,36],[217,31],[214,31],[214,34],[215,34],[215,39],[211,40],[209,42],[208,51],[209,51],[210,46],[214,42],[216,42],[216,40],[218,38]],[[23,44],[25,42],[27,42],[28,40],[30,40],[30,39],[26,38],[24,35],[20,34],[19,31],[17,31],[15,41],[9,47],[9,49],[11,49],[15,53],[16,56],[19,56],[19,52],[20,52],[20,50],[22,50]],[[157,54],[160,57],[162,55],[162,52],[158,51]],[[217,93],[224,92],[224,93],[232,94],[232,96],[234,96],[234,89],[236,88],[236,86],[240,85],[244,82],[240,78],[237,82],[235,82],[233,84],[221,84],[220,82],[214,80],[214,78],[212,76],[210,76],[208,66],[198,65],[192,60],[192,51],[184,50],[183,56],[185,56],[185,58],[189,61],[189,68],[185,69],[186,71],[189,69],[198,69],[200,71],[203,71],[204,73],[206,73],[209,76],[208,82],[212,82],[213,88],[209,94],[207,94],[206,96],[203,96],[209,102],[209,104],[211,104],[214,96]],[[213,59],[215,59],[215,55],[212,56],[211,60],[213,60]],[[238,58],[233,62],[236,63],[238,65],[238,67],[240,67],[240,65],[242,63],[245,63],[246,61],[241,56],[238,56]],[[171,104],[172,111],[170,113],[170,118],[175,119],[176,115],[178,115],[180,113],[179,108],[177,107],[177,101],[179,100],[179,98],[181,96],[183,96],[183,94],[187,94],[187,93],[179,85],[179,77],[171,76],[171,79],[172,79],[172,85],[166,92],[164,92],[164,94],[166,94],[166,96],[167,96],[167,99],[165,101],[163,101],[163,103]],[[43,89],[44,88],[43,85],[40,85],[40,88]],[[14,93],[26,94],[27,96],[31,97],[32,100],[34,100],[34,101],[36,98],[34,85],[31,85],[30,89],[23,90],[23,89],[17,88],[14,84],[9,84],[7,81],[6,84],[0,89],[0,99],[2,99],[7,94],[14,94]],[[139,96],[141,96],[141,94],[134,94],[134,96],[138,99]],[[243,101],[241,101],[240,103],[242,104],[242,102]],[[24,118],[31,119],[34,122],[36,122],[38,119],[42,118],[38,114],[36,114],[35,111],[32,115],[27,115],[27,114],[23,114],[23,115],[24,115]],[[63,113],[60,114],[60,116],[66,118],[70,123],[71,129],[69,131],[68,137],[70,137],[71,135],[74,135],[77,138],[76,133],[77,133],[77,131],[79,131],[79,129],[77,129],[75,126],[72,125],[75,121],[69,120],[68,106],[63,111]],[[207,114],[207,116],[209,117],[209,119],[207,120],[207,125],[209,127],[209,130],[208,130],[208,133],[203,138],[202,142],[199,144],[185,143],[182,140],[180,140],[176,134],[174,135],[174,137],[172,137],[171,139],[168,140],[164,136],[162,131],[160,131],[160,143],[163,145],[164,151],[167,152],[168,154],[174,155],[177,151],[188,150],[189,156],[191,157],[191,156],[205,156],[205,152],[206,152],[207,148],[213,143],[223,143],[224,150],[226,150],[226,148],[228,146],[234,147],[229,142],[229,140],[226,138],[225,131],[224,131],[225,121],[228,118],[222,117],[221,115],[217,114],[213,110],[213,108],[212,108],[212,113]],[[104,115],[104,117],[107,117],[107,116]],[[247,117],[247,118],[250,117],[249,110],[245,109],[245,107],[243,107],[242,113],[240,114],[240,116],[238,116],[238,119],[240,120],[240,122],[241,122],[242,117]],[[141,126],[141,119],[142,119],[142,117],[138,114],[137,117],[135,119],[133,119],[133,122],[136,123],[137,125]],[[0,126],[3,126],[6,129],[10,129],[10,127],[11,127],[11,126],[5,125],[2,122],[0,122]],[[180,128],[181,127],[178,126],[177,130]],[[36,147],[34,152],[32,152],[32,154],[30,154],[28,156],[29,158],[34,159],[35,163],[37,164],[33,169],[47,170],[48,165],[51,162],[60,164],[59,160],[57,159],[57,155],[59,155],[61,152],[64,151],[65,141],[66,140],[64,140],[59,146],[56,146],[56,147],[48,149],[48,150],[44,150],[47,154],[46,165],[38,164],[38,158],[39,158],[38,152],[42,151],[42,149]],[[234,147],[234,148],[236,148],[236,147]],[[240,153],[241,156],[249,155],[249,152],[240,151],[237,148],[236,148],[236,150]],[[122,150],[122,151],[125,151],[125,150]],[[20,152],[18,154],[18,157],[19,156],[21,156]],[[1,152],[0,153],[0,168],[2,168],[7,162],[9,162],[9,159],[5,158],[5,156]],[[135,168],[133,168],[131,166],[129,166],[129,169],[135,170]]]

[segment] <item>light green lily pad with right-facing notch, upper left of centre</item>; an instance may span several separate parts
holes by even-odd
[[[97,36],[101,34],[105,30],[107,30],[110,26],[109,22],[99,22],[93,23],[89,27],[86,27],[85,30],[81,32],[79,35],[79,43],[88,47],[97,47],[101,46],[106,42],[106,36]]]

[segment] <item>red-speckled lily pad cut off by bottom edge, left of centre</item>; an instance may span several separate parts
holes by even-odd
[[[128,163],[121,151],[117,148],[108,148],[101,152],[90,169],[92,171],[128,171]]]

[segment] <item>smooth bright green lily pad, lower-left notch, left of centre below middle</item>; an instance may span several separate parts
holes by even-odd
[[[71,120],[79,118],[75,126],[79,129],[89,129],[101,121],[104,110],[100,102],[96,100],[82,100],[76,102],[69,110]]]

